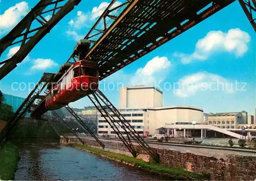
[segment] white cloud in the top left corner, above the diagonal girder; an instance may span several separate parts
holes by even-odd
[[[23,1],[7,9],[4,14],[0,14],[1,29],[13,28],[29,12],[28,3]]]

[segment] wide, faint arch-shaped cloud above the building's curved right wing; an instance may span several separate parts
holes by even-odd
[[[178,97],[190,97],[206,90],[233,93],[234,88],[234,84],[229,80],[208,72],[185,76],[174,85],[175,95]]]

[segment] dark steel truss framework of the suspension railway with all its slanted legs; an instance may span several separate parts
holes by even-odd
[[[88,52],[82,54],[82,58],[98,62],[99,79],[102,80],[147,53],[157,49],[162,44],[182,34],[191,27],[196,26],[204,19],[214,15],[234,1],[235,0],[127,0],[119,6],[114,6],[116,0],[113,0],[84,37],[84,39],[91,41],[92,46]],[[250,24],[256,31],[255,0],[237,1],[239,1]],[[0,67],[0,80],[15,69],[17,64],[25,59],[35,45],[80,2],[81,0],[39,1],[39,3],[0,40],[0,56],[9,47],[14,44],[20,44],[19,50],[11,58],[0,62],[0,65],[2,65],[2,67]],[[51,18],[47,20],[45,15],[51,15]],[[37,26],[33,26],[36,24],[35,22]],[[73,52],[68,58],[67,63],[74,63],[78,58],[77,53]],[[3,147],[8,136],[31,107],[33,108],[33,110],[31,110],[31,116],[42,119],[41,116],[48,110],[45,109],[44,96],[40,96],[39,94],[42,91],[48,93],[49,89],[46,88],[46,84],[56,82],[61,75],[61,72],[58,72],[56,74],[45,73],[42,76],[27,99],[15,112],[13,118],[8,122],[6,129],[0,132],[1,147]],[[90,95],[89,99],[97,107],[133,156],[136,157],[138,154],[132,144],[132,141],[136,141],[153,159],[159,161],[159,155],[144,142],[100,90]],[[36,104],[34,103],[35,100],[37,100]],[[94,133],[90,131],[90,128],[84,124],[79,116],[77,116],[69,106],[66,106],[66,108],[71,115],[74,116],[80,126],[88,131],[99,145],[104,148],[104,145],[97,139]],[[55,111],[51,111],[51,113],[54,119],[65,124]],[[111,115],[114,115],[115,118]],[[48,117],[47,119],[52,124],[52,118]],[[124,131],[120,131],[118,125],[121,126]],[[57,128],[56,132],[58,132]],[[73,133],[83,143],[79,136],[75,132]],[[124,135],[126,135],[126,137],[124,137]]]

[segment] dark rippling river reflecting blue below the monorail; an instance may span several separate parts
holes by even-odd
[[[15,180],[161,180],[129,166],[54,142],[19,144]]]

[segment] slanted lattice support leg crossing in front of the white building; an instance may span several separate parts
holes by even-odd
[[[123,142],[126,148],[132,153],[134,157],[138,155],[138,152],[132,144],[134,140],[139,146],[141,146],[156,162],[160,162],[159,154],[156,153],[148,144],[140,137],[138,132],[130,125],[129,122],[120,114],[116,107],[104,96],[104,94],[98,89],[96,92],[88,96],[95,107],[104,117],[106,122],[109,123],[111,128],[118,135],[119,139]],[[116,119],[115,119],[115,118]],[[120,131],[120,129],[123,131]],[[127,137],[125,138],[124,135]]]

